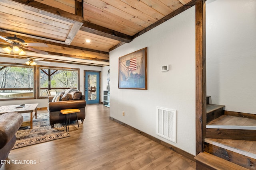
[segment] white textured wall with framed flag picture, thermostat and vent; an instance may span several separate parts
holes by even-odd
[[[148,90],[118,89],[118,57],[144,47]],[[111,117],[195,155],[194,7],[110,51],[110,80]],[[156,135],[156,107],[177,110],[177,143]]]

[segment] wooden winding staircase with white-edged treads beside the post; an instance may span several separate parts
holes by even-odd
[[[256,170],[256,115],[224,111],[207,96],[205,151],[198,170]]]

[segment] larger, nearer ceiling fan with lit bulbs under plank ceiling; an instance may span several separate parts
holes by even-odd
[[[8,54],[10,54],[11,51],[13,51],[14,54],[25,55],[26,53],[22,49],[28,49],[30,51],[34,51],[34,52],[41,53],[44,55],[48,54],[45,51],[41,51],[41,50],[32,48],[32,47],[48,47],[48,45],[46,45],[44,43],[25,43],[25,41],[23,39],[16,37],[16,35],[14,35],[14,37],[0,36],[0,39],[3,39],[4,41],[9,43],[9,44],[1,43],[4,45],[9,45],[8,47],[3,48],[3,50]],[[32,46],[32,47],[30,47],[30,46]]]

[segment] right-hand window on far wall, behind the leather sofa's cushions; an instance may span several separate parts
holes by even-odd
[[[39,97],[54,96],[65,89],[77,89],[79,69],[39,67]]]

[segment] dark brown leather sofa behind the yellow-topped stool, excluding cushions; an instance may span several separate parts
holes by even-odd
[[[60,113],[62,109],[79,109],[80,112],[77,113],[78,120],[81,120],[82,123],[85,119],[85,96],[82,95],[79,100],[66,100],[66,101],[58,101],[52,102],[54,96],[48,97],[48,112],[50,117],[50,125],[54,127],[55,123],[64,123],[65,115]],[[70,121],[76,120],[76,114],[71,114]]]

